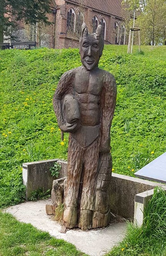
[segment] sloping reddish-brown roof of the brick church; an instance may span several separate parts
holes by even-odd
[[[79,0],[66,0],[66,2],[80,4]],[[122,0],[83,0],[83,5],[99,11],[100,13],[107,13],[117,17],[122,17],[121,14]]]

